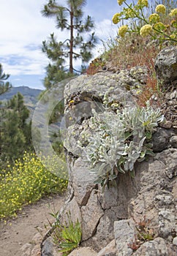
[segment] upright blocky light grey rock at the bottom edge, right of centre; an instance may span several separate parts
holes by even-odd
[[[132,255],[133,250],[129,248],[129,244],[134,240],[135,232],[131,220],[122,219],[114,222],[114,236],[118,256]]]

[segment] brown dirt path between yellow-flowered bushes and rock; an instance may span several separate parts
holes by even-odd
[[[23,208],[16,219],[11,219],[7,224],[0,222],[0,256],[21,256],[21,247],[31,243],[38,230],[46,230],[48,219],[54,220],[50,213],[59,211],[63,203],[64,196],[61,195],[41,199]]]

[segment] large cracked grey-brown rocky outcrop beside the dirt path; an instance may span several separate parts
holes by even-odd
[[[116,184],[105,191],[94,184],[94,175],[78,145],[78,141],[86,145],[93,133],[89,127],[92,110],[98,115],[104,112],[105,97],[109,106],[135,105],[136,90],[146,86],[146,75],[146,67],[83,75],[70,81],[65,89],[62,128],[69,200],[61,211],[61,219],[68,211],[73,221],[79,219],[81,246],[91,247],[98,256],[177,255],[176,127],[172,123],[158,127],[152,138],[156,156],[135,164],[135,178],[118,173]],[[176,80],[174,72],[171,76]]]

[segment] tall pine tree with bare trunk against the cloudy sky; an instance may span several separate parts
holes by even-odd
[[[80,58],[83,64],[88,62],[92,57],[91,49],[97,43],[94,32],[91,32],[94,29],[93,20],[88,15],[83,21],[82,7],[86,1],[67,0],[66,2],[65,7],[57,4],[56,0],[49,0],[42,10],[42,15],[45,17],[56,19],[57,29],[69,31],[69,38],[64,42],[57,42],[54,34],[50,34],[48,42],[42,42],[42,51],[52,61],[47,67],[46,88],[74,75],[76,70],[73,67],[73,59]],[[91,32],[91,35],[85,42],[84,34],[88,32]],[[69,59],[69,69],[64,67],[66,59]]]

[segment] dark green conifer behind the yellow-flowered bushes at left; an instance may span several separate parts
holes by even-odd
[[[13,162],[23,155],[25,150],[32,150],[31,122],[28,121],[29,110],[18,93],[7,101],[0,113],[0,152],[1,167]]]

